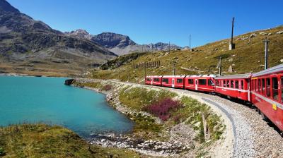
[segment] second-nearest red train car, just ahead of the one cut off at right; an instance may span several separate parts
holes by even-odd
[[[251,74],[221,75],[215,78],[215,92],[250,102]]]

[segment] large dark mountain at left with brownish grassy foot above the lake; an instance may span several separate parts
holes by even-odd
[[[0,0],[0,71],[76,73],[117,55],[96,42],[50,28]],[[74,72],[70,72],[74,73]]]

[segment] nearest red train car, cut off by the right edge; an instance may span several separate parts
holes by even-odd
[[[263,118],[283,131],[283,64],[254,73],[251,78],[252,103]]]

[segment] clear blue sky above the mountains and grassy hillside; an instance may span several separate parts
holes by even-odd
[[[116,32],[139,44],[192,47],[283,24],[282,0],[8,0],[22,13],[60,31]]]

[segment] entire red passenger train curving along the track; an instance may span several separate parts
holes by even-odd
[[[240,75],[149,75],[146,85],[214,92],[250,102],[283,131],[283,64]]]

